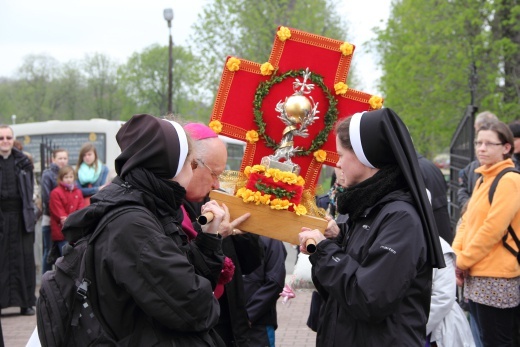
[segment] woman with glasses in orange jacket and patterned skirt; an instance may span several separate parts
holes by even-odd
[[[513,134],[499,121],[477,132],[475,153],[481,164],[467,211],[457,230],[453,249],[457,254],[457,284],[464,283],[483,346],[511,346],[514,312],[520,304],[520,265],[506,249],[502,238],[516,250],[508,226],[520,232],[520,175],[507,173],[497,185],[490,203],[489,190],[495,177],[513,168]]]

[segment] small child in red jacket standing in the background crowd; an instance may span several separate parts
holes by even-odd
[[[83,194],[75,185],[75,174],[72,166],[64,166],[58,172],[58,185],[51,192],[49,209],[51,214],[51,235],[53,243],[61,248],[67,243],[61,229],[67,217],[83,208]]]

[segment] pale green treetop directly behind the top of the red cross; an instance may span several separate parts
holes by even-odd
[[[210,95],[218,88],[226,56],[266,62],[280,25],[347,40],[347,26],[334,1],[214,0],[199,15],[191,39]]]

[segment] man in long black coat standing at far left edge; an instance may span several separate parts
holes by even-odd
[[[0,125],[0,308],[34,315],[33,164],[13,146],[13,129]]]

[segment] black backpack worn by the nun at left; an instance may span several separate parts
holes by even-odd
[[[110,327],[96,305],[92,305],[98,302],[96,286],[90,286],[95,279],[94,241],[109,222],[135,209],[152,215],[137,205],[109,211],[92,234],[80,238],[73,246],[66,245],[63,257],[56,261],[56,269],[42,276],[36,303],[42,346],[117,346]]]

